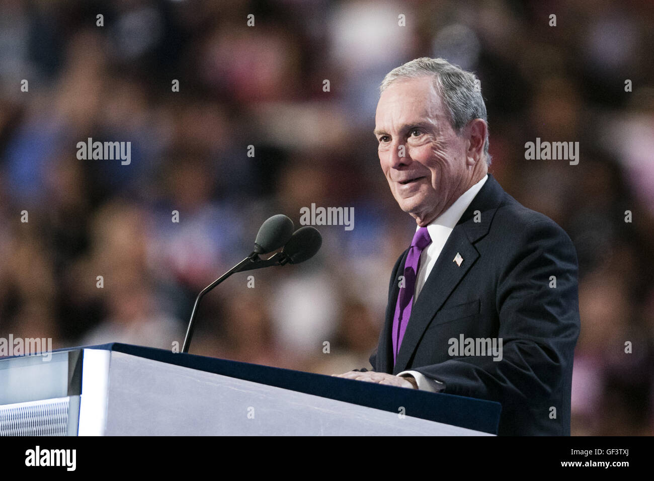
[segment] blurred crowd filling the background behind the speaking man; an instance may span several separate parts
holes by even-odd
[[[317,257],[220,285],[191,352],[369,366],[415,230],[379,167],[378,87],[443,57],[481,79],[490,172],[576,245],[572,433],[651,435],[653,51],[648,0],[0,0],[0,337],[172,349],[262,221],[300,226],[315,203],[354,207],[354,229],[319,227]],[[77,160],[88,137],[131,141],[131,164]],[[579,141],[579,164],[525,160],[536,137]]]

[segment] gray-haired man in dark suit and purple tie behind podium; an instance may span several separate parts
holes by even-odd
[[[341,376],[502,403],[500,435],[569,435],[577,257],[488,173],[479,82],[442,59],[388,73],[379,160],[417,223],[390,277],[372,371]]]

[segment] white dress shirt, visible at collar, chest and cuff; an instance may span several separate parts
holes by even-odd
[[[436,264],[436,260],[438,260],[438,256],[443,250],[445,242],[447,242],[447,238],[449,238],[456,223],[458,223],[463,213],[472,203],[473,198],[475,198],[481,187],[486,183],[488,177],[488,175],[484,175],[481,181],[477,182],[466,190],[466,192],[461,194],[461,196],[455,200],[454,204],[450,205],[445,212],[436,217],[432,223],[427,225],[427,232],[429,232],[432,242],[422,251],[420,256],[420,266],[418,268],[418,275],[415,279],[413,304],[415,304],[415,300],[420,295],[427,277],[429,277],[429,274],[432,272],[434,264]],[[419,227],[416,227],[416,230],[418,229]],[[418,389],[421,389],[422,391],[438,393],[438,391],[444,389],[443,383],[430,379],[417,371],[402,371],[398,376],[412,376],[418,384]]]

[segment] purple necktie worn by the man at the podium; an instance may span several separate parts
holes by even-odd
[[[404,331],[407,329],[409,317],[411,317],[411,306],[413,305],[413,293],[415,292],[415,279],[420,267],[420,255],[422,250],[432,241],[426,227],[421,227],[415,232],[407,260],[404,263],[404,287],[400,287],[398,303],[395,306],[395,315],[393,317],[393,363],[395,363]]]

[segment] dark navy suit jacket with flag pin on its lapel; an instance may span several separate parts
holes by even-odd
[[[416,370],[445,383],[444,393],[501,402],[500,435],[570,435],[579,306],[577,255],[566,232],[489,173],[415,300],[393,365],[390,332],[407,252],[390,276],[374,370]],[[450,355],[449,340],[461,334],[502,338],[502,360]]]

